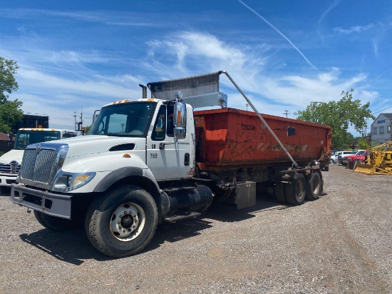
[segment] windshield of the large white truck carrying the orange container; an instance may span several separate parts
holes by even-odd
[[[118,103],[101,109],[88,135],[143,137],[156,102]]]

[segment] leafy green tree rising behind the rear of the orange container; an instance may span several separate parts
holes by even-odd
[[[366,118],[375,117],[371,114],[370,102],[361,104],[359,99],[353,100],[353,92],[343,91],[339,101],[311,102],[304,111],[294,115],[301,121],[321,123],[332,127],[332,148],[348,148],[353,143],[354,136],[347,130],[354,126],[356,131],[366,127]]]

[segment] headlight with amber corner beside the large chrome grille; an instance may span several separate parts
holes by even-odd
[[[91,181],[96,173],[66,173],[60,171],[53,184],[53,191],[68,192],[80,188]]]

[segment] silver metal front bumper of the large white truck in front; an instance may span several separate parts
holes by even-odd
[[[11,185],[10,200],[12,203],[49,216],[71,219],[71,199],[72,196],[64,194],[27,188],[21,184]]]

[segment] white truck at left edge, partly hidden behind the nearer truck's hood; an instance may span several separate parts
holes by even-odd
[[[75,137],[76,131],[58,128],[20,128],[15,136],[14,148],[0,157],[0,188],[11,187],[21,168],[26,146],[32,143],[48,142]]]

